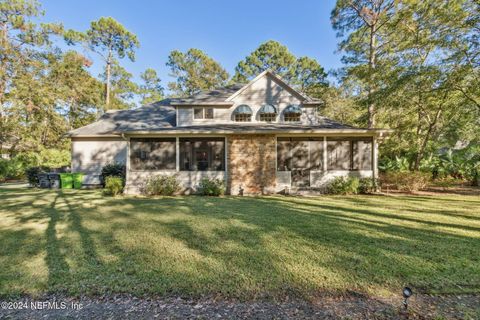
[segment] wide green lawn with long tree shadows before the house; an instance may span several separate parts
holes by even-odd
[[[110,198],[0,189],[0,296],[480,293],[474,196]]]

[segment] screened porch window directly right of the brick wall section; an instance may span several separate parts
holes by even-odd
[[[322,170],[323,137],[278,138],[277,170]]]

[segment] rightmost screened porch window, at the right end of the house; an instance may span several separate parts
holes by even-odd
[[[372,140],[328,138],[328,170],[372,170]]]

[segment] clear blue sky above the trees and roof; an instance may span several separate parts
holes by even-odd
[[[273,39],[296,56],[310,56],[330,70],[341,66],[335,53],[338,39],[330,23],[335,0],[41,0],[42,19],[63,22],[84,31],[90,21],[111,16],[140,41],[136,61],[122,65],[136,77],[154,68],[166,87],[171,81],[165,65],[171,50],[199,48],[230,74],[236,64],[260,43]],[[102,65],[89,53],[98,75]]]

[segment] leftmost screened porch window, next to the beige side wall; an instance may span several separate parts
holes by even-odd
[[[175,138],[130,139],[132,170],[175,170]]]

